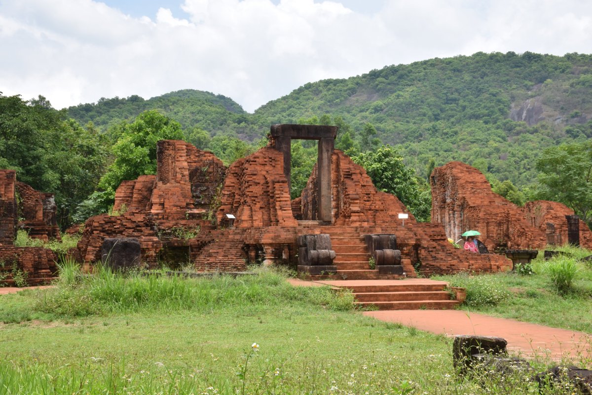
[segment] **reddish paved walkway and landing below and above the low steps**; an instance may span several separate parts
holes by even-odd
[[[345,281],[302,281],[292,279],[293,285],[318,286],[332,285],[386,285],[390,282],[411,282],[413,284],[433,284],[426,278],[408,278],[406,280],[345,280]],[[592,359],[592,335],[536,325],[516,320],[496,318],[463,310],[382,310],[364,311],[362,314],[375,319],[398,322],[405,326],[414,326],[427,332],[445,336],[481,335],[497,336],[506,339],[508,349],[523,357],[549,357],[559,361],[562,357]]]

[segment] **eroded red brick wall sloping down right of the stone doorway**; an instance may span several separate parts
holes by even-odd
[[[459,271],[497,272],[511,268],[511,262],[504,256],[477,255],[455,249],[448,242],[442,225],[418,223],[397,197],[378,191],[365,169],[339,150],[333,153],[332,173],[334,225],[355,226],[361,235],[396,235],[401,264],[408,276],[414,276],[414,266],[426,275]],[[313,170],[302,194],[304,219],[307,216],[314,219],[316,182],[316,171]],[[399,213],[408,214],[404,226],[398,219]]]

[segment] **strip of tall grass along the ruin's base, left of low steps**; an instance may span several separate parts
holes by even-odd
[[[58,316],[88,316],[108,311],[208,311],[220,306],[288,301],[309,301],[338,311],[354,307],[350,292],[334,293],[329,287],[292,287],[284,274],[266,269],[260,269],[255,276],[240,278],[222,275],[213,279],[186,279],[157,272],[121,274],[107,266],[95,266],[93,275],[82,277],[73,262],[62,261],[61,265],[60,281],[37,300],[37,311]]]

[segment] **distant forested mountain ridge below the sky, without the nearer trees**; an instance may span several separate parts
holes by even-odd
[[[149,109],[184,130],[198,126],[247,141],[265,136],[274,123],[330,115],[349,124],[358,142],[371,124],[382,143],[401,144],[407,165],[423,177],[430,159],[436,165],[462,160],[525,187],[535,181],[541,149],[592,136],[592,56],[476,53],[387,66],[305,84],[254,114],[227,97],[193,90],[101,99],[68,113],[102,127]]]

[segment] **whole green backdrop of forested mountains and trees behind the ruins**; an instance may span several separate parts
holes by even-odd
[[[183,138],[230,164],[265,144],[271,124],[334,124],[336,147],[419,219],[429,220],[433,167],[461,160],[517,204],[562,201],[592,223],[591,119],[592,56],[584,54],[476,53],[387,66],[305,84],[253,114],[192,89],[59,111],[42,96],[0,92],[0,168],[55,193],[65,228],[108,210],[121,180],[153,173],[158,139]],[[292,197],[315,161],[313,142],[292,144]]]

